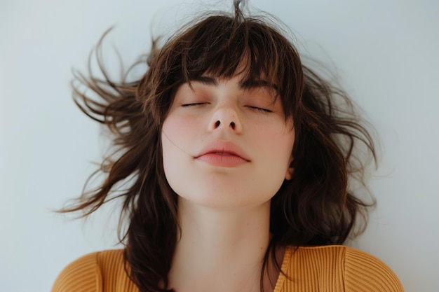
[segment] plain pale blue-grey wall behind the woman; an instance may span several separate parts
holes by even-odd
[[[353,245],[390,265],[406,291],[439,291],[439,2],[250,3],[278,16],[299,50],[337,72],[381,137],[370,184],[378,207]],[[72,67],[86,67],[112,25],[107,60],[115,46],[129,64],[147,52],[151,32],[206,7],[1,0],[0,291],[49,291],[67,263],[116,244],[110,208],[86,223],[50,211],[81,193],[104,149],[99,127],[72,102]]]

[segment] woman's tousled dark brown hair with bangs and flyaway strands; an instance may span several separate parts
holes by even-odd
[[[264,269],[276,246],[342,244],[358,215],[366,215],[367,204],[349,191],[349,181],[365,172],[365,160],[353,155],[358,145],[375,160],[370,133],[349,97],[305,67],[292,43],[270,23],[245,17],[236,4],[234,15],[205,16],[161,48],[154,42],[147,72],[138,81],[110,80],[99,58],[100,46],[97,58],[104,78],[76,74],[76,81],[100,97],[93,99],[74,86],[76,104],[109,127],[117,151],[102,163],[102,185],[62,211],[82,210],[87,216],[108,200],[123,200],[120,222],[128,217],[128,226],[120,240],[126,246],[128,273],[140,291],[168,291],[177,242],[177,194],[166,181],[161,153],[161,126],[175,92],[205,72],[234,76],[244,58],[245,78],[264,76],[278,85],[285,116],[294,120],[296,133],[294,174],[271,200],[273,236]]]

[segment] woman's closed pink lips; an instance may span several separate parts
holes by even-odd
[[[232,141],[212,141],[195,156],[210,165],[234,167],[250,162],[248,155]]]

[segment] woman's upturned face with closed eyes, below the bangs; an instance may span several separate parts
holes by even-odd
[[[178,88],[161,135],[166,179],[208,207],[263,204],[290,179],[295,132],[264,83],[208,75]]]

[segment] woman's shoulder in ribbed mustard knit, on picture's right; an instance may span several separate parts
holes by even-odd
[[[291,280],[288,285],[295,286],[285,291],[294,291],[297,285],[310,291],[403,291],[390,267],[348,246],[289,246],[283,269]]]

